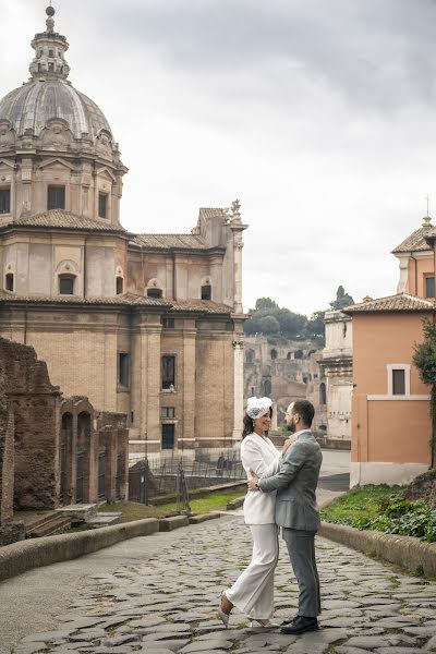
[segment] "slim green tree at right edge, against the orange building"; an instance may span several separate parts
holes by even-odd
[[[432,416],[432,468],[436,464],[436,322],[435,317],[423,319],[424,341],[414,346],[413,363],[420,378],[431,386]]]

